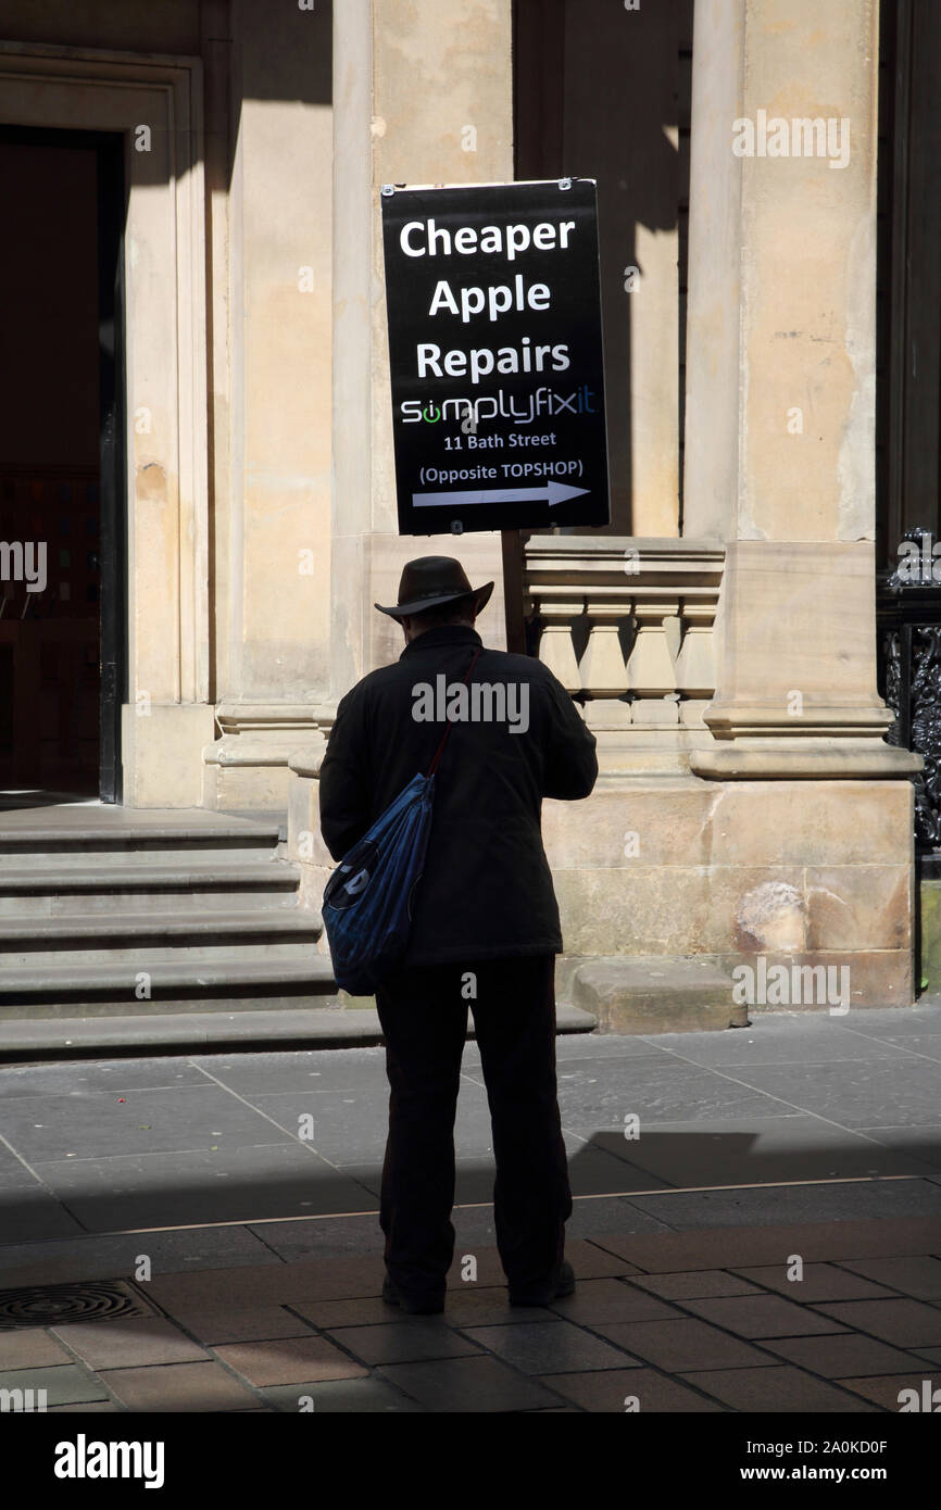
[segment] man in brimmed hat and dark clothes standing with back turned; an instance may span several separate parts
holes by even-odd
[[[408,948],[376,991],[390,1125],[379,1223],[384,1299],[444,1309],[455,1253],[455,1111],[468,1004],[491,1111],[494,1222],[511,1305],[571,1294],[572,1200],[556,1099],[559,908],[541,835],[544,797],[586,797],[595,738],[541,661],[485,649],[471,587],[450,556],[409,562],[394,607],[405,649],[337,708],[320,767],[334,859],[426,773],[449,720]],[[470,684],[459,692],[479,652]]]

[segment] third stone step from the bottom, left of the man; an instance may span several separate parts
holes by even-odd
[[[307,908],[205,914],[112,912],[107,917],[5,918],[0,921],[0,992],[12,971],[45,965],[189,965],[248,960],[305,960],[323,924]],[[63,956],[69,956],[66,960]]]

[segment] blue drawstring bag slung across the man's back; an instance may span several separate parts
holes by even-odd
[[[470,663],[465,683],[479,654]],[[405,954],[432,826],[435,772],[450,731],[449,723],[427,775],[412,776],[343,856],[323,891],[323,927],[334,980],[353,997],[372,997]]]

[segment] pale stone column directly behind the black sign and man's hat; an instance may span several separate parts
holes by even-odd
[[[511,0],[334,6],[334,432],[331,696],[394,660],[394,602],[415,556],[497,580],[479,621],[503,645],[500,536],[399,536],[379,190],[514,178]],[[329,710],[323,710],[325,722]]]

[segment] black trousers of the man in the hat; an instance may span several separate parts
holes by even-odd
[[[538,954],[399,969],[376,992],[390,1083],[379,1223],[387,1270],[409,1297],[440,1297],[455,1256],[453,1134],[468,1007],[491,1113],[503,1270],[517,1293],[557,1274],[572,1197],[556,1099],[554,980],[554,954]]]

